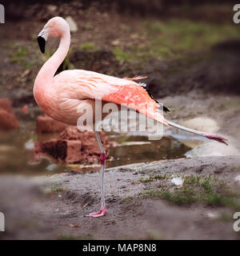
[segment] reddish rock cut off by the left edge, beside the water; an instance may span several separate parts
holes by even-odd
[[[0,130],[14,130],[19,128],[14,110],[8,98],[0,98]]]

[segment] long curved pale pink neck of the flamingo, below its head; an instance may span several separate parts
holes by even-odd
[[[58,70],[58,66],[61,65],[70,47],[70,30],[69,28],[62,35],[58,50],[54,55],[49,58],[38,72],[38,76],[35,79],[34,86],[50,86],[53,81],[54,74]]]

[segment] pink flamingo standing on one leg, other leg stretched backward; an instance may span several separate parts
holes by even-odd
[[[34,98],[42,111],[51,118],[70,126],[76,126],[78,118],[81,116],[79,108],[87,110],[89,106],[92,106],[94,110],[96,102],[101,99],[102,102],[113,102],[118,106],[122,104],[130,107],[166,126],[174,126],[226,144],[226,138],[192,130],[166,120],[163,118],[162,111],[160,115],[154,115],[155,112],[160,111],[158,102],[151,97],[146,86],[135,82],[143,77],[116,78],[88,70],[64,70],[54,75],[70,48],[70,28],[64,18],[51,18],[38,34],[38,45],[42,53],[45,52],[46,40],[56,37],[60,38],[58,50],[45,62],[34,82]],[[144,110],[142,102],[152,104],[154,111]],[[167,111],[167,108],[164,107],[163,110]],[[95,112],[90,113],[93,116],[96,114]],[[99,158],[101,163],[101,206],[98,212],[86,216],[97,218],[106,214],[104,182],[106,153],[98,131],[94,130],[94,133],[101,151]]]

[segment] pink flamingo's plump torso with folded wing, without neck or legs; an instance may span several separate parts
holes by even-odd
[[[72,126],[76,126],[80,116],[77,110],[87,109],[89,104],[94,110],[95,100],[127,106],[166,124],[162,115],[155,114],[155,111],[159,112],[159,104],[133,79],[140,78],[115,78],[88,70],[65,70],[54,76],[45,91],[37,85],[34,98],[50,117]],[[147,111],[147,106],[152,111]]]

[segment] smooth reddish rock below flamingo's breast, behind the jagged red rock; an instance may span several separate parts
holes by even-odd
[[[67,125],[50,118],[46,114],[42,114],[37,118],[36,129],[38,134],[56,133],[66,129]]]

